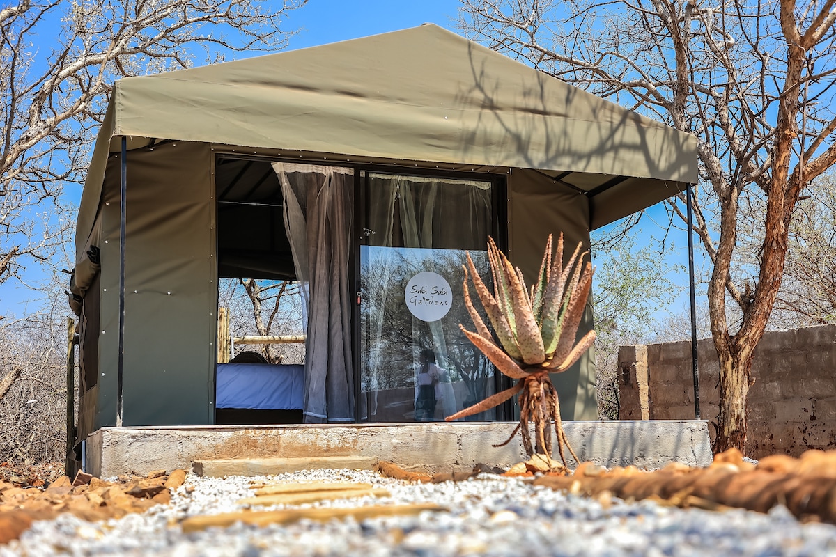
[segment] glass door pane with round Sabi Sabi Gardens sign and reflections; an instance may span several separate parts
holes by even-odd
[[[361,187],[361,421],[441,421],[496,389],[492,364],[459,328],[473,330],[466,252],[483,276],[489,269],[492,184],[364,174]]]

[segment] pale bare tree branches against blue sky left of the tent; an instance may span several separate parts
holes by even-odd
[[[0,282],[63,241],[33,229],[80,182],[117,78],[187,68],[232,51],[282,48],[279,24],[307,0],[18,0],[0,9]]]

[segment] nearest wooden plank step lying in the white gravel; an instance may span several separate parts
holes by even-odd
[[[267,526],[268,524],[290,524],[302,519],[327,522],[332,519],[353,518],[365,520],[376,516],[409,516],[421,514],[424,511],[438,512],[446,510],[436,504],[410,505],[374,505],[370,507],[328,508],[328,509],[283,509],[258,513],[242,511],[239,513],[208,514],[193,516],[181,522],[183,532],[196,532],[207,528],[226,528],[237,522]]]

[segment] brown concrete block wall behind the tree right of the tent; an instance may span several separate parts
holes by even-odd
[[[697,342],[701,418],[716,419],[719,366]],[[620,419],[693,419],[691,342],[619,348]],[[836,449],[836,325],[767,332],[752,361],[747,454]],[[714,428],[709,425],[711,438]]]

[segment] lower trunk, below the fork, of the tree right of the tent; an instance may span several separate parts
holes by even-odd
[[[721,353],[723,352],[723,353]],[[737,448],[745,453],[746,401],[751,384],[752,358],[736,350],[717,351],[720,359],[720,413],[717,415],[713,452]]]

